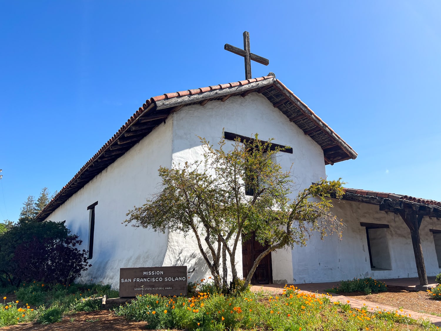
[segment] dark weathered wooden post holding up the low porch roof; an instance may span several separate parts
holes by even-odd
[[[412,209],[404,209],[400,211],[400,216],[403,218],[407,227],[411,230],[412,246],[415,254],[416,270],[418,271],[418,278],[420,285],[428,285],[426,266],[424,265],[424,257],[422,256],[421,238],[419,235],[419,227],[422,222],[422,215],[418,215]]]

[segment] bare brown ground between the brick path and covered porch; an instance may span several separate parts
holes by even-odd
[[[339,293],[359,300],[376,302],[396,308],[406,308],[414,312],[441,316],[441,301],[432,300],[427,292],[410,292],[399,287],[388,286],[388,292],[372,293]]]

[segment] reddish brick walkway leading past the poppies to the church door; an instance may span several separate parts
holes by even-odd
[[[428,277],[429,283],[434,283],[435,277]],[[433,278],[433,279],[432,279]],[[418,278],[400,278],[400,279],[381,279],[381,281],[386,282],[389,286],[401,286],[404,288],[409,288],[408,290],[412,290],[412,288],[415,288],[416,285],[419,284]],[[304,293],[321,293],[326,295],[326,289],[330,289],[335,287],[338,284],[338,282],[329,282],[329,283],[310,283],[310,284],[294,284],[294,286],[297,286],[300,290],[300,292]],[[266,284],[262,286],[254,285],[251,286],[252,291],[268,291],[270,293],[274,294],[281,294],[283,291],[283,287],[285,284]],[[289,285],[289,284],[288,284]],[[349,301],[349,305],[351,305],[352,308],[367,308],[368,311],[374,312],[374,311],[387,311],[387,312],[397,312],[401,315],[408,315],[412,318],[419,319],[420,317],[422,319],[429,319],[432,323],[434,323],[437,326],[441,326],[441,317],[440,316],[434,316],[430,314],[424,314],[421,312],[414,312],[409,309],[401,309],[397,307],[387,306],[387,305],[381,305],[377,304],[375,302],[369,302],[364,300],[355,299],[354,297],[346,297],[341,294],[329,294],[326,295],[330,301],[339,301],[341,303],[347,303]]]

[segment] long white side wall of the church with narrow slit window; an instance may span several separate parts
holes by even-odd
[[[47,219],[66,220],[66,226],[83,240],[87,249],[89,211],[95,207],[92,267],[80,281],[110,283],[119,287],[120,268],[162,266],[168,234],[121,224],[133,206],[157,192],[158,168],[172,164],[172,119],[161,124],[127,153],[76,192]]]

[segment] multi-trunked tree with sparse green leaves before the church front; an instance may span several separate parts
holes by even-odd
[[[192,233],[215,285],[227,286],[227,255],[233,282],[238,279],[236,252],[252,235],[267,247],[254,261],[246,288],[259,262],[270,252],[305,245],[311,234],[341,236],[343,223],[331,212],[329,196],[343,194],[340,180],[321,179],[295,196],[292,170],[274,162],[283,147],[253,139],[219,147],[201,138],[202,161],[161,167],[161,191],[129,211],[126,225],[165,233]]]

